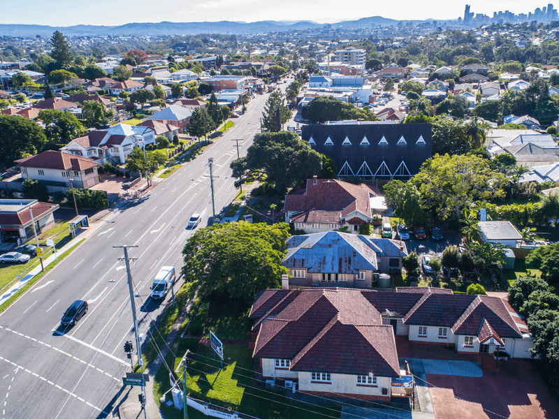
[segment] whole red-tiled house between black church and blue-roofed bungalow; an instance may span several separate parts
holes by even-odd
[[[307,179],[307,187],[285,197],[285,222],[305,233],[359,226],[372,220],[370,199],[377,193],[367,184],[350,184],[337,179]]]

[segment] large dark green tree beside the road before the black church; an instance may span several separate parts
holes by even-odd
[[[305,179],[318,175],[322,168],[321,154],[296,133],[279,131],[254,135],[247,156],[231,162],[233,177],[242,178],[252,170],[263,170],[266,183],[285,193]]]

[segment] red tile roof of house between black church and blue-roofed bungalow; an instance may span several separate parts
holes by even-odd
[[[316,182],[316,184],[314,184]],[[307,179],[305,193],[285,197],[284,211],[300,211],[292,222],[340,222],[351,212],[371,217],[370,196],[377,196],[366,184],[350,184],[336,179]]]

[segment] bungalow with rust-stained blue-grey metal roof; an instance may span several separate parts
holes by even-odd
[[[295,235],[287,240],[282,266],[290,285],[371,288],[375,272],[400,272],[405,242],[338,231]]]

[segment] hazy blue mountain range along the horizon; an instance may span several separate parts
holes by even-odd
[[[390,26],[398,22],[431,22],[432,20],[393,20],[382,16],[363,17],[359,20],[337,22],[333,28],[358,29],[377,26]],[[159,22],[159,23],[127,23],[119,26],[75,25],[71,27],[50,27],[38,24],[0,24],[0,36],[51,36],[54,31],[61,31],[66,36],[137,36],[137,35],[194,35],[194,34],[262,34],[266,32],[298,31],[302,29],[321,29],[324,24],[310,20],[260,22]]]

